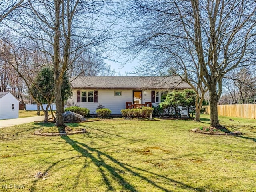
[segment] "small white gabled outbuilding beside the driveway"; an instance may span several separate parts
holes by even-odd
[[[10,92],[0,93],[0,120],[19,117],[19,100]]]

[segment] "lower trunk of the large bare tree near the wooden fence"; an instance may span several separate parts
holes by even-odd
[[[210,127],[219,127],[219,118],[218,118],[218,95],[216,91],[216,86],[212,86],[209,89],[210,93],[210,119],[211,124]]]

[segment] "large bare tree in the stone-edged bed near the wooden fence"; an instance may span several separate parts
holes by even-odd
[[[128,50],[144,53],[148,63],[162,61],[153,68],[158,74],[169,65],[184,77],[202,81],[192,85],[209,90],[210,126],[219,127],[223,76],[237,67],[255,65],[256,2],[135,0],[129,4],[133,26]]]

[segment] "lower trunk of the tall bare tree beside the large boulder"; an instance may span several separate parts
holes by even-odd
[[[56,103],[56,126],[57,127],[66,127],[63,117],[62,117],[62,99],[61,99],[61,83],[56,80],[55,77],[55,103]]]

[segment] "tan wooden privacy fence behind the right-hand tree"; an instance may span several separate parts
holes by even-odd
[[[204,114],[210,114],[210,106],[202,107],[206,108]],[[218,105],[218,115],[236,118],[256,119],[256,104]]]

